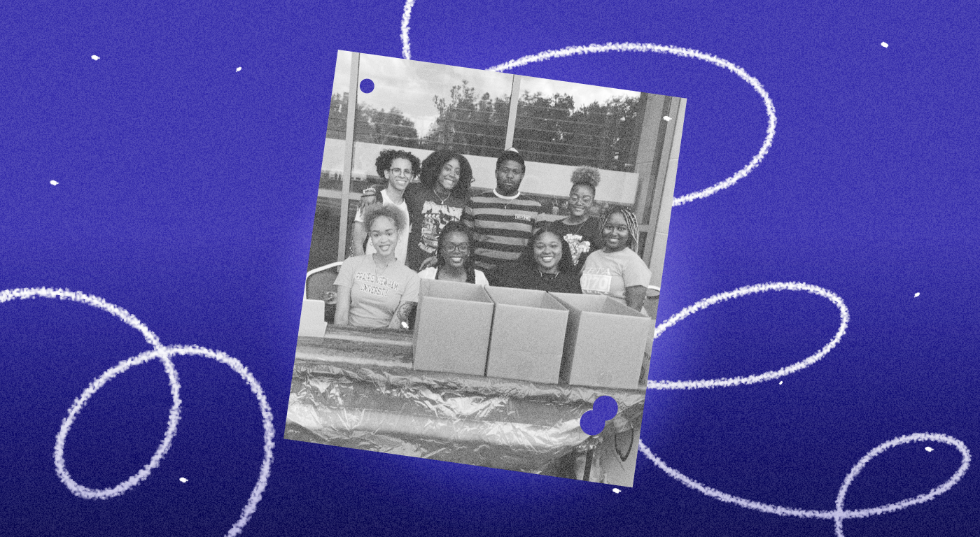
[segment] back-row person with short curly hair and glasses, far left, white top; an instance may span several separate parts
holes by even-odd
[[[377,169],[378,176],[388,181],[388,185],[381,191],[381,203],[398,208],[405,214],[405,221],[409,222],[409,207],[404,200],[405,189],[421,169],[418,157],[403,150],[384,150],[374,160],[374,167]],[[351,231],[353,243],[351,249],[354,250],[354,255],[374,253],[374,246],[370,243],[367,248],[365,247],[365,240],[368,239],[368,230],[364,224],[365,204],[361,204],[357,215],[354,216],[354,229]],[[395,246],[395,259],[401,263],[405,263],[408,252],[410,229],[411,225],[406,226],[399,233],[398,245]]]

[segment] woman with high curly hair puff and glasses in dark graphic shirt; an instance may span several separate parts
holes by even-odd
[[[596,200],[599,170],[580,166],[571,172],[571,192],[568,193],[568,216],[552,224],[552,230],[568,243],[571,260],[581,271],[585,258],[592,250],[603,247],[602,222],[589,216]]]

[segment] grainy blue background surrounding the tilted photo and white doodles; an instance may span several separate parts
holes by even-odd
[[[279,439],[336,51],[401,56],[402,8],[7,3],[0,290],[101,296],[165,344],[218,349],[248,366],[269,396],[277,441],[244,535],[833,535],[830,520],[721,503],[644,458],[635,487],[616,494]],[[651,42],[710,53],[760,80],[778,117],[772,149],[732,188],[674,207],[660,320],[718,292],[800,281],[840,295],[852,321],[823,360],[782,384],[651,390],[643,440],[725,493],[832,510],[848,471],[892,438],[940,432],[980,453],[978,12],[970,1],[419,0],[412,57],[485,68],[570,45]],[[515,72],[686,97],[676,196],[734,174],[765,135],[752,87],[699,60],[607,53]],[[728,301],[665,332],[651,378],[778,369],[818,350],[838,324],[829,301],[804,292]],[[258,478],[261,417],[245,383],[206,358],[174,360],[183,418],[149,479],[106,501],[59,482],[54,440],[73,398],[147,348],[81,304],[0,304],[6,534],[223,535],[238,518]],[[159,362],[112,380],[68,438],[74,479],[106,487],[139,470],[170,404]],[[959,453],[929,445],[874,459],[846,507],[947,480]],[[978,475],[971,468],[931,502],[847,520],[844,531],[977,534]]]

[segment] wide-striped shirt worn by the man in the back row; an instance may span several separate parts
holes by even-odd
[[[523,194],[513,200],[501,198],[494,191],[471,197],[463,221],[476,235],[476,266],[483,271],[494,270],[520,256],[540,212],[541,203]]]

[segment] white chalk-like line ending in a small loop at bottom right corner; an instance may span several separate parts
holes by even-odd
[[[881,455],[885,451],[898,445],[907,444],[909,442],[928,442],[928,441],[941,442],[944,444],[951,445],[955,447],[961,455],[961,462],[959,464],[959,468],[956,469],[956,472],[954,472],[953,476],[951,476],[945,483],[939,485],[938,487],[933,488],[932,490],[930,490],[925,494],[919,494],[914,498],[907,498],[906,500],[903,500],[901,502],[896,502],[893,504],[888,504],[876,508],[860,509],[856,511],[846,511],[844,509],[844,497],[847,494],[848,488],[851,486],[851,483],[854,482],[854,479],[855,477],[858,476],[860,470],[862,470],[864,466],[871,459],[877,457],[878,455]],[[861,457],[860,461],[858,461],[858,464],[855,465],[855,467],[851,469],[851,471],[848,473],[847,477],[844,478],[844,484],[841,485],[841,489],[837,494],[837,502],[836,502],[835,510],[818,511],[818,510],[805,510],[805,509],[795,509],[795,508],[788,508],[782,506],[774,506],[771,504],[763,504],[761,502],[747,500],[745,498],[739,498],[738,496],[732,496],[731,494],[721,492],[720,490],[711,488],[710,486],[703,485],[700,482],[688,477],[687,475],[684,475],[680,471],[668,467],[661,460],[660,457],[658,457],[657,455],[655,455],[653,452],[650,451],[650,448],[648,448],[647,445],[643,443],[643,440],[640,440],[639,449],[648,459],[653,461],[653,463],[657,465],[658,468],[666,472],[667,475],[673,477],[674,479],[677,479],[681,483],[684,483],[686,486],[693,488],[694,490],[697,490],[698,492],[701,492],[706,496],[710,496],[715,500],[727,502],[730,504],[735,504],[739,507],[760,511],[762,513],[768,513],[771,515],[798,516],[801,518],[833,519],[834,531],[837,537],[844,537],[843,524],[844,524],[844,520],[847,518],[864,518],[872,515],[885,515],[886,513],[893,513],[905,509],[907,507],[914,506],[916,504],[922,504],[928,502],[929,500],[936,498],[940,494],[943,494],[944,492],[953,488],[953,486],[956,485],[957,482],[959,482],[959,479],[962,478],[963,474],[970,466],[970,450],[966,447],[966,444],[964,444],[960,440],[957,440],[953,436],[936,433],[936,432],[915,432],[912,434],[907,434],[905,436],[899,436],[898,438],[893,438],[877,446],[876,448],[869,451],[866,455],[864,455],[864,457]]]

